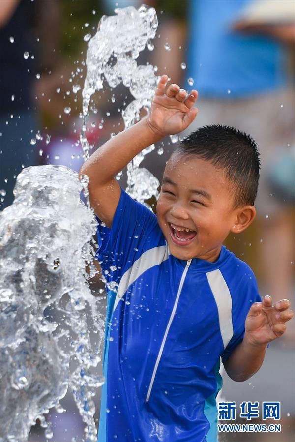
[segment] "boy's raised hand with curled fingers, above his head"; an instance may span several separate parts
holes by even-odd
[[[193,108],[198,92],[189,94],[176,84],[166,88],[168,76],[163,75],[151,103],[147,122],[157,137],[174,135],[186,129],[195,119],[198,109]]]

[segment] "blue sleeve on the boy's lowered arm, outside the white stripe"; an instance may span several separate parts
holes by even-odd
[[[241,288],[243,288],[243,290],[241,290]],[[255,275],[250,267],[247,266],[247,272],[239,281],[237,295],[236,297],[232,296],[232,298],[232,320],[234,334],[221,355],[221,360],[223,363],[230,357],[235,348],[242,342],[244,338],[245,321],[251,305],[254,302],[261,302]]]

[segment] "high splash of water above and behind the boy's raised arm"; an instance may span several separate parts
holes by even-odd
[[[122,111],[125,128],[128,128],[139,121],[142,109],[149,111],[160,78],[155,76],[152,65],[138,65],[136,62],[146,46],[150,51],[153,50],[151,40],[158,27],[155,9],[143,5],[138,10],[130,6],[116,9],[115,12],[115,16],[101,18],[97,33],[88,43],[87,76],[82,93],[84,122],[80,137],[86,159],[90,148],[86,138],[90,98],[95,91],[103,88],[104,81],[111,88],[122,83],[134,97]],[[138,170],[145,155],[154,148],[152,145],[142,151],[127,168],[126,191],[139,202],[144,202],[147,195],[148,198],[158,196],[157,188],[160,183],[157,178],[145,168]]]

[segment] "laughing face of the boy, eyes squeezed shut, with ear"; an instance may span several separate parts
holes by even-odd
[[[158,223],[172,255],[216,261],[229,232],[244,230],[238,227],[242,209],[234,209],[233,203],[223,169],[194,155],[174,153],[157,203]]]

